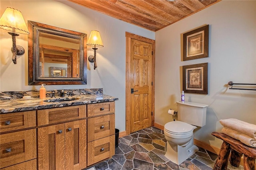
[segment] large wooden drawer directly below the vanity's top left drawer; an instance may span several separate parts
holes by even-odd
[[[0,168],[36,158],[36,129],[0,135]]]

